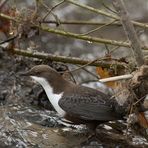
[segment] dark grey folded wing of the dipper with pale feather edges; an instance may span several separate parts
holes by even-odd
[[[64,96],[59,101],[59,106],[69,114],[78,116],[84,120],[109,121],[118,119],[118,113],[114,109],[114,102],[101,92],[87,92]]]

